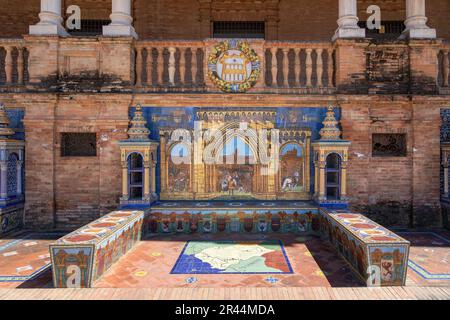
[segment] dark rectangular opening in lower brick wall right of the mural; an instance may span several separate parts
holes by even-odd
[[[373,157],[406,157],[406,134],[374,133]]]

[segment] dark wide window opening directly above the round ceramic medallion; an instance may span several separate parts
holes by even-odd
[[[214,21],[213,38],[265,38],[264,21]]]

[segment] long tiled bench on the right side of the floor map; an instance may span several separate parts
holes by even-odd
[[[322,237],[367,286],[405,285],[408,241],[361,214],[321,210],[320,219]]]

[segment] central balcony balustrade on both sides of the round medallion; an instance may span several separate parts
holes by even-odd
[[[331,43],[251,41],[261,59],[261,78],[251,92],[332,93]],[[136,87],[143,92],[216,92],[208,79],[207,41],[139,41]]]

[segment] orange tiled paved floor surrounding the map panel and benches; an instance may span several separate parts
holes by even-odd
[[[405,298],[422,296],[450,299],[450,235],[446,232],[407,232],[401,236],[412,243],[407,286],[371,291],[363,288],[334,250],[316,237],[298,235],[271,235],[266,239],[278,239],[284,249],[292,274],[171,274],[171,271],[188,240],[239,240],[242,242],[260,239],[259,235],[174,235],[151,237],[139,243],[125,258],[121,259],[96,283],[95,290],[104,298],[124,295],[137,298],[155,298],[147,289],[159,292],[161,297],[191,297],[203,295],[231,294],[231,297],[259,297],[259,294],[278,298],[308,296],[316,298],[339,298],[360,292],[368,292],[368,298],[387,298],[403,294]],[[7,239],[0,239],[0,288],[51,288],[51,272],[48,268],[48,245],[60,234],[18,233]],[[276,265],[275,265],[276,266]],[[351,287],[345,289],[344,287]],[[434,288],[431,288],[434,287]],[[104,289],[103,289],[104,288]],[[107,288],[121,288],[110,290]],[[189,291],[193,290],[193,291]],[[212,290],[211,292],[209,290]],[[225,290],[225,291],[223,291]],[[251,291],[256,290],[256,291]],[[262,290],[262,291],[261,291]],[[287,291],[286,291],[287,290]],[[360,291],[363,290],[363,291]],[[398,291],[400,290],[400,291]],[[406,290],[406,291],[405,291]],[[434,291],[433,291],[434,290]],[[437,290],[437,291],[436,291]],[[152,291],[152,292],[153,292]],[[20,298],[19,292],[34,295],[42,292],[45,297],[56,298],[60,290],[1,291],[4,296]],[[288,293],[286,293],[288,292]],[[370,293],[369,293],[370,292]],[[188,295],[189,293],[189,295]],[[64,297],[77,297],[78,291],[67,291]],[[82,294],[84,295],[84,294]],[[93,294],[95,297],[97,293]],[[364,296],[364,295],[363,295]],[[401,296],[401,295],[399,295]],[[36,296],[39,298],[39,296]],[[391,297],[392,298],[392,297]]]

